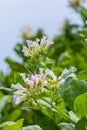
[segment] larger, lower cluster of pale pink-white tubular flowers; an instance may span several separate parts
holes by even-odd
[[[15,90],[13,92],[15,104],[19,104],[24,100],[30,101],[37,99],[38,96],[44,92],[45,87],[51,88],[51,86],[54,86],[54,83],[58,81],[57,76],[50,69],[44,71],[40,68],[39,74],[26,76],[25,73],[23,73],[21,76],[24,80],[24,86],[21,86],[20,83],[11,85],[11,88]]]

